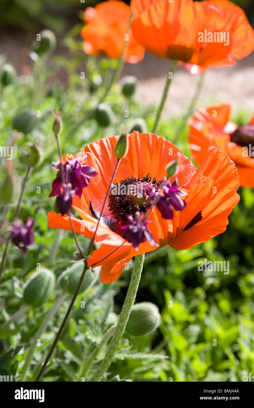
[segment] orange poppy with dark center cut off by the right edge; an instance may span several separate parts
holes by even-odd
[[[235,162],[241,186],[254,188],[254,116],[237,126],[230,122],[231,110],[227,104],[208,106],[189,119],[192,158],[201,164],[209,149],[221,149]]]

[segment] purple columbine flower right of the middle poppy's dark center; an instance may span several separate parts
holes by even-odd
[[[172,218],[174,217],[173,208],[175,208],[175,210],[177,211],[183,211],[183,209],[186,207],[186,201],[181,200],[180,196],[188,195],[188,193],[185,193],[184,191],[180,190],[178,186],[179,186],[178,180],[176,177],[172,184],[168,182],[168,184],[166,184],[166,186],[163,187],[164,195],[159,198],[156,206],[164,220],[172,220]],[[157,191],[150,192],[151,195],[151,200],[149,203],[150,206],[153,205],[155,197],[158,194],[159,192]]]

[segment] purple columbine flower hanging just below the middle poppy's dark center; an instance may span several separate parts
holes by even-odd
[[[133,218],[132,215],[128,215],[127,218],[129,223],[122,227],[124,230],[123,238],[133,244],[136,251],[138,250],[139,244],[146,241],[150,242],[152,246],[158,246],[147,227],[152,221],[145,221],[143,223],[141,220],[142,214],[143,213],[137,211],[135,213],[135,218]]]

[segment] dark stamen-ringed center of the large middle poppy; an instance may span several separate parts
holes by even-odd
[[[113,218],[120,226],[128,224],[128,215],[136,212],[145,213],[150,200],[149,193],[159,189],[161,180],[147,174],[142,177],[128,177],[120,180],[111,188],[108,208]]]

